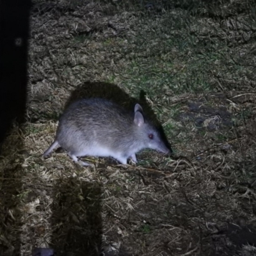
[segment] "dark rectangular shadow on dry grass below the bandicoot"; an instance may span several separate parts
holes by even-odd
[[[99,255],[102,235],[101,188],[76,178],[59,181],[52,203],[50,247],[58,255]]]

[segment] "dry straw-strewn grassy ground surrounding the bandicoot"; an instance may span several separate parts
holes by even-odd
[[[210,3],[211,2],[211,3]],[[26,122],[0,166],[0,255],[256,255],[254,1],[40,1]],[[56,150],[65,106],[140,102],[173,148],[138,164]]]

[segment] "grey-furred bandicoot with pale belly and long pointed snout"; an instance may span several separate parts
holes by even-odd
[[[140,104],[129,113],[106,99],[82,99],[71,104],[61,116],[56,138],[44,157],[57,145],[74,161],[81,156],[111,156],[122,164],[127,164],[129,157],[136,162],[135,154],[143,148],[170,152],[157,129],[143,116]]]

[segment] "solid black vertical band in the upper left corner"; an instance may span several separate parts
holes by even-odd
[[[31,1],[0,2],[0,150],[12,121],[24,121]]]

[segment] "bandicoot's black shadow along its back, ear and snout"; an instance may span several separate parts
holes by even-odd
[[[147,118],[154,125],[156,125],[157,129],[159,129],[159,132],[164,140],[164,143],[166,144],[166,147],[168,147],[172,151],[171,145],[168,142],[166,135],[164,134],[163,127],[160,124],[159,120],[157,120],[157,116],[154,111],[152,111],[152,109],[148,105],[145,95],[146,92],[141,90],[140,99],[135,99],[130,97],[127,93],[124,92],[124,90],[122,90],[115,84],[102,82],[85,82],[83,85],[77,86],[77,88],[71,93],[69,99],[67,100],[67,103],[65,104],[65,109],[77,99],[92,97],[112,100],[116,104],[123,106],[130,111],[133,111],[135,104],[139,103],[141,104],[141,107],[143,108],[143,111]]]

